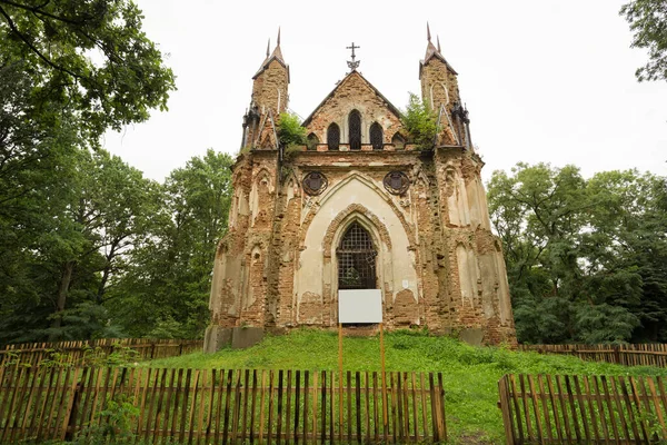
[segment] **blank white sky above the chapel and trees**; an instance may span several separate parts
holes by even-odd
[[[636,81],[646,55],[629,48],[624,0],[137,2],[178,91],[168,112],[103,144],[152,179],[207,148],[238,152],[251,77],[278,26],[289,107],[305,118],[348,71],[352,41],[359,71],[405,108],[420,91],[427,20],[459,73],[485,179],[518,161],[667,176],[667,82]]]

